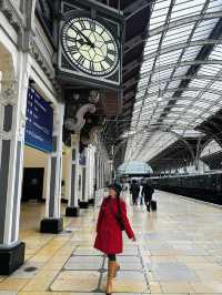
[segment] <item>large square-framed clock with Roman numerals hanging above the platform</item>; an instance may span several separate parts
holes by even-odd
[[[61,0],[56,75],[61,85],[121,91],[124,16],[94,0]]]

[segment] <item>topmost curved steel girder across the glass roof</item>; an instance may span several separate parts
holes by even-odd
[[[188,18],[182,18],[175,21],[171,21],[168,24],[163,24],[163,26],[160,26],[159,28],[150,30],[147,41],[149,41],[149,38],[152,35],[162,33],[163,31],[167,31],[167,30],[170,30],[170,29],[183,26],[183,24],[189,24],[191,22],[196,22],[196,21],[202,21],[202,20],[220,19],[220,18],[222,18],[222,11],[196,14],[196,16],[191,16]]]

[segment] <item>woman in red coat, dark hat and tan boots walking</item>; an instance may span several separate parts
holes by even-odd
[[[115,254],[123,251],[121,227],[124,227],[129,238],[135,241],[127,216],[125,202],[120,200],[120,191],[121,187],[117,184],[109,186],[109,196],[103,199],[97,223],[94,247],[109,257],[107,294],[112,293],[112,278],[120,268]]]

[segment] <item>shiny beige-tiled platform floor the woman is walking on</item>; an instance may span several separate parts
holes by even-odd
[[[114,294],[222,294],[222,208],[157,192],[158,212],[129,206],[138,241],[125,238]],[[0,277],[3,295],[101,294],[107,261],[92,248],[97,212],[65,218],[59,235],[40,234],[44,205],[22,206],[27,262]]]

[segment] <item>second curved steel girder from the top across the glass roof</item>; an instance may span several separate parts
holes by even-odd
[[[175,39],[176,40],[176,39]],[[153,51],[151,53],[144,54],[143,55],[143,62],[155,58],[160,57],[162,54],[179,50],[179,49],[184,49],[184,48],[190,48],[190,47],[203,47],[203,45],[215,45],[215,44],[222,44],[222,39],[205,39],[205,40],[196,40],[196,41],[190,41],[190,42],[183,42],[179,44],[172,44],[170,47],[161,48],[161,50]]]

